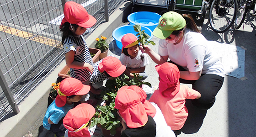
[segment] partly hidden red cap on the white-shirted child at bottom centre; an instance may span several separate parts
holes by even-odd
[[[143,104],[147,115],[154,117],[156,109],[148,100],[146,100],[147,95],[145,91],[136,85],[131,85],[128,87],[128,89],[135,91],[139,95],[140,102]]]

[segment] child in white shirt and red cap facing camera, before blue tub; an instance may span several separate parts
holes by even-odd
[[[133,73],[142,76],[144,80],[148,75],[144,72],[146,65],[149,64],[149,58],[139,50],[138,38],[132,33],[125,34],[121,42],[123,44],[120,61],[127,67],[125,74],[133,78]]]

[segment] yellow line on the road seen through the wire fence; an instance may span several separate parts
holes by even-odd
[[[39,42],[39,43],[44,43],[46,45],[52,46],[52,47],[61,47],[61,44],[59,43],[59,41],[53,40],[53,39],[48,39],[47,37],[43,37],[43,36],[35,36],[32,33],[29,32],[24,32],[15,28],[11,28],[8,26],[4,26],[2,25],[2,27],[0,27],[0,31],[5,32],[5,33],[9,33],[11,35],[15,35],[18,37],[24,37],[26,39],[31,39],[32,37],[32,41],[35,42]],[[58,44],[59,43],[59,44]],[[57,45],[58,44],[58,45]]]

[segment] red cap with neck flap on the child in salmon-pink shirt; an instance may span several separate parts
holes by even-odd
[[[180,70],[173,63],[162,63],[155,66],[159,74],[159,91],[164,97],[176,95],[180,90]]]

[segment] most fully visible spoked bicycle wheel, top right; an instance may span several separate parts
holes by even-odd
[[[237,1],[236,0],[213,0],[209,20],[214,32],[227,31],[235,21]]]

